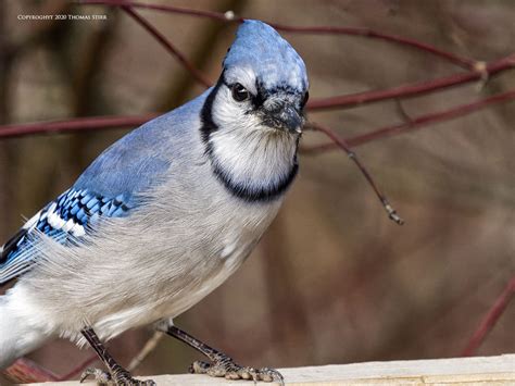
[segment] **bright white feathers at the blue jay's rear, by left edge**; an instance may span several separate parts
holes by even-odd
[[[48,333],[16,312],[23,304],[13,304],[14,300],[9,291],[0,296],[0,369],[42,346],[49,338]]]

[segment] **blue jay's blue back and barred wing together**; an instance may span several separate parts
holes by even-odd
[[[75,185],[30,219],[0,247],[0,284],[27,272],[37,258],[37,231],[73,245],[100,217],[128,215],[151,187],[163,180],[172,157],[187,154],[191,122],[197,122],[210,90],[183,107],[133,130],[98,157]]]

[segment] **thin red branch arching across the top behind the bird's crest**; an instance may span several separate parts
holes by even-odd
[[[199,11],[187,8],[174,7],[174,5],[161,5],[161,4],[147,4],[137,1],[125,1],[125,0],[84,0],[85,4],[105,4],[105,5],[115,5],[115,7],[135,7],[154,11],[164,11],[171,13],[178,13],[184,15],[197,16],[197,17],[208,17],[222,22],[236,22],[241,23],[243,17],[231,17],[227,14],[212,11]],[[268,22],[267,22],[268,23]],[[293,26],[285,24],[268,23],[277,30],[285,33],[293,34],[316,34],[316,35],[350,35],[350,36],[362,36],[366,38],[381,39],[390,41],[398,45],[410,46],[412,48],[426,51],[434,55],[443,58],[461,67],[473,70],[477,66],[477,62],[473,59],[459,57],[452,52],[443,51],[439,48],[432,47],[430,45],[407,39],[402,36],[389,35],[372,30],[368,28],[354,28],[354,27],[336,27],[336,26]]]

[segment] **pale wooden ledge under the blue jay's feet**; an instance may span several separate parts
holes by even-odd
[[[434,385],[459,386],[515,385],[515,354],[497,357],[450,358],[412,361],[365,362],[310,368],[279,369],[287,385]],[[205,375],[155,375],[158,386],[233,385],[251,386],[249,381],[226,381]],[[61,382],[55,385],[77,385]],[[88,383],[86,383],[87,385]],[[91,383],[89,383],[91,384]],[[52,385],[32,384],[32,385]],[[274,385],[260,383],[260,385]]]

